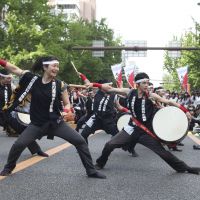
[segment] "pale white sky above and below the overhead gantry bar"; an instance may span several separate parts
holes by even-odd
[[[107,18],[110,28],[123,40],[147,40],[147,46],[167,46],[200,23],[200,0],[96,0],[97,19]],[[134,58],[140,71],[161,80],[164,51],[148,51]],[[158,82],[154,82],[159,85]]]

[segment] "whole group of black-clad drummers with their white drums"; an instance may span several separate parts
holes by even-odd
[[[47,157],[36,142],[43,136],[48,139],[57,136],[73,144],[89,178],[106,178],[99,170],[105,167],[111,152],[121,148],[135,156],[137,143],[155,152],[176,172],[199,174],[199,167],[188,166],[165,148],[165,145],[176,147],[186,136],[188,121],[194,120],[191,113],[183,105],[152,91],[146,73],[135,76],[136,89],[133,89],[115,88],[109,80],[92,83],[76,71],[84,85],[72,87],[56,79],[59,61],[54,56],[39,57],[31,72],[3,59],[0,65],[3,67],[0,71],[0,125],[8,135],[19,135],[1,176],[12,173],[26,147],[32,154]],[[10,73],[20,77],[14,90]],[[162,118],[164,116],[169,120]],[[77,124],[75,130],[67,123],[72,120]],[[179,127],[174,124],[166,131],[170,121],[175,121]],[[88,137],[96,130],[104,130],[112,137],[94,165]]]

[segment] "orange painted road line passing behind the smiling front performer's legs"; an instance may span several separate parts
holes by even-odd
[[[101,130],[96,131],[95,134],[99,133],[99,132],[101,132]],[[94,136],[95,134],[90,135],[90,137]],[[70,146],[72,146],[72,144],[67,142],[67,143],[61,144],[57,147],[54,147],[52,149],[49,149],[49,150],[45,151],[45,153],[47,153],[49,156],[52,156],[54,154],[59,153],[60,151],[63,151],[64,149],[69,148]],[[48,157],[34,156],[27,160],[24,160],[16,165],[16,168],[13,170],[12,174],[15,174],[23,169],[31,167],[32,165],[35,165],[36,163],[38,163],[46,158],[48,158]],[[8,177],[8,176],[0,176],[0,181],[5,179],[6,177]]]

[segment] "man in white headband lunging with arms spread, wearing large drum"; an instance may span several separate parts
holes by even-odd
[[[165,150],[161,142],[152,133],[152,120],[154,116],[154,105],[151,98],[158,102],[179,107],[186,113],[188,119],[191,115],[188,110],[178,103],[164,99],[155,93],[148,93],[149,76],[146,73],[138,73],[135,76],[137,89],[113,88],[107,84],[88,83],[88,87],[96,86],[107,92],[114,92],[127,96],[128,108],[132,118],[127,126],[107,142],[102,155],[96,160],[96,168],[102,169],[109,155],[115,148],[120,148],[130,142],[138,142],[158,154],[169,166],[179,173],[199,174],[200,168],[189,167],[179,160],[171,152]]]

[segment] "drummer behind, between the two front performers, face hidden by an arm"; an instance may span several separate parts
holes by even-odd
[[[86,85],[90,85],[90,81],[84,74],[78,72],[78,75]],[[109,85],[110,81],[107,79],[99,80],[97,84],[100,83]],[[81,132],[87,143],[89,135],[94,134],[96,130],[104,130],[112,136],[118,133],[117,124],[115,123],[116,109],[128,111],[128,109],[119,104],[116,94],[109,94],[99,88],[94,96],[93,115],[88,119]]]

